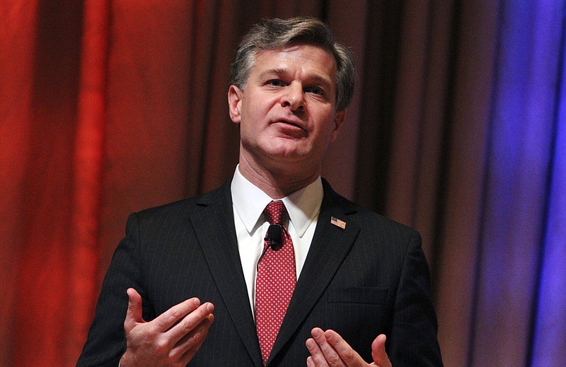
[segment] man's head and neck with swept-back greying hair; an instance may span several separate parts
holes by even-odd
[[[272,197],[320,175],[352,99],[354,62],[328,25],[270,19],[244,37],[228,91],[240,127],[240,172]]]

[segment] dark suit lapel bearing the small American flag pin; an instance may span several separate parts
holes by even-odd
[[[308,313],[320,300],[320,296],[330,284],[359,233],[359,226],[347,220],[353,210],[351,203],[337,195],[325,180],[323,184],[324,198],[313,241],[273,346],[270,360],[282,350],[284,344],[289,342]],[[346,227],[342,229],[330,223],[332,217],[345,221]]]

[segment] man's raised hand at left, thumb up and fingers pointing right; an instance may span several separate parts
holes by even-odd
[[[155,320],[141,316],[141,296],[128,289],[128,310],[124,329],[126,353],[120,367],[185,366],[204,342],[214,320],[212,303],[200,304],[197,298],[174,305]]]

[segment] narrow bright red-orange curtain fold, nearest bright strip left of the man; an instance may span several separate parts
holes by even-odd
[[[74,183],[69,249],[69,309],[64,364],[74,363],[90,327],[98,291],[98,247],[102,203],[102,172],[108,71],[108,1],[83,5],[83,35],[77,127],[74,141]]]

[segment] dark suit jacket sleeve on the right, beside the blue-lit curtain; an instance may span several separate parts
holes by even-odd
[[[395,367],[442,366],[429,278],[420,234],[413,231],[395,296],[391,343],[388,348]]]

